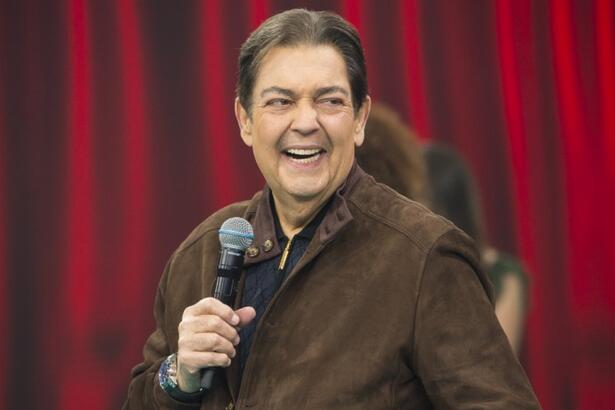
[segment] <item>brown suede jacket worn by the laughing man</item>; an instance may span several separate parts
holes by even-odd
[[[246,264],[280,254],[268,189],[199,225],[164,271],[125,408],[540,408],[471,239],[356,165],[258,324],[243,379],[233,361],[201,404],[172,400],[156,373],[183,310],[212,294],[218,229],[233,216],[254,226]]]

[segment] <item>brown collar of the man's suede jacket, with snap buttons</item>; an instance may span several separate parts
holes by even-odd
[[[346,180],[333,194],[331,204],[320,226],[316,229],[314,240],[320,244],[329,242],[353,217],[348,209],[346,199],[365,172],[353,163]],[[275,220],[272,214],[271,189],[265,185],[260,195],[255,195],[245,218],[254,228],[254,241],[246,251],[244,266],[260,263],[281,253],[275,231]]]

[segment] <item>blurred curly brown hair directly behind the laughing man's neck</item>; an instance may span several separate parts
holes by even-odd
[[[373,104],[357,162],[376,181],[415,201],[427,201],[426,170],[417,137],[391,108]]]

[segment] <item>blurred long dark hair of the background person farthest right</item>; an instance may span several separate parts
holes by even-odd
[[[479,197],[463,158],[450,148],[430,144],[423,150],[432,209],[484,245]]]

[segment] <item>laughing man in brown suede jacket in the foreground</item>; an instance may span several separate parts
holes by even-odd
[[[539,408],[471,240],[354,164],[370,110],[356,31],[273,16],[241,48],[237,89],[267,186],[171,257],[126,407]],[[209,295],[234,216],[255,238],[232,309]],[[224,371],[203,391],[207,367]]]

